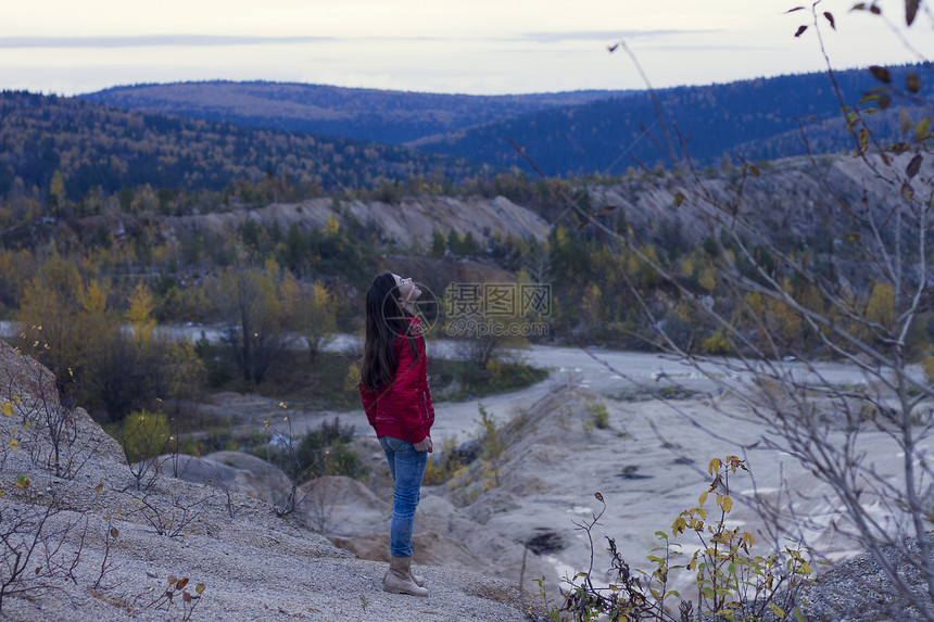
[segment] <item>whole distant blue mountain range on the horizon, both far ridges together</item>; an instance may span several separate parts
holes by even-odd
[[[893,67],[896,84],[920,65]],[[836,73],[844,101],[855,105],[880,84],[867,69]],[[919,102],[934,103],[931,80]],[[550,176],[619,174],[634,162],[666,165],[669,144],[683,144],[699,166],[775,160],[854,149],[841,102],[824,73],[757,78],[655,93],[669,137],[646,91],[576,91],[530,96],[449,96],[277,82],[186,82],[116,87],[81,96],[237,125],[404,143],[492,165],[531,170],[513,139]],[[895,101],[871,117],[883,140],[903,128]],[[917,115],[916,115],[917,116]],[[802,140],[799,122],[808,143]]]

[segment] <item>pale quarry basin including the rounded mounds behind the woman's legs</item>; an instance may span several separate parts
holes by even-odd
[[[451,344],[434,343],[429,348],[436,355],[450,354]],[[465,486],[458,481],[424,490],[416,523],[416,534],[424,538],[416,553],[420,562],[471,569],[516,583],[521,576],[522,587],[533,593],[538,586],[531,581],[545,576],[554,592],[561,577],[586,570],[590,563],[586,536],[576,523],[599,511],[594,497],[599,492],[607,507],[593,530],[595,570],[608,564],[604,536],[616,540],[633,567],[648,569],[645,556],[658,545],[655,532],[670,529],[681,510],[696,505],[707,487],[707,462],[731,454],[744,456],[755,477],[755,481],[737,477],[734,493],[752,495],[755,487],[760,498],[774,499],[781,491],[782,503],[791,503],[803,522],[809,522],[804,531],[795,524],[781,525],[786,535],[806,540],[830,561],[860,551],[829,526],[838,518],[830,491],[787,455],[744,449],[756,444],[765,428],[743,420],[742,407],[724,402],[696,370],[641,353],[533,346],[523,356],[551,369],[550,378],[519,392],[438,405],[432,430],[438,447],[454,436],[464,442],[476,435],[479,404],[501,423],[517,418],[527,423],[510,435],[498,486],[483,491],[482,485]],[[861,380],[844,365],[823,364],[820,372],[834,383]],[[659,388],[660,377],[684,386],[690,396],[669,403],[653,399],[651,392]],[[588,426],[592,418],[588,408],[593,404],[606,406],[609,428]],[[361,557],[382,559],[391,507],[389,483],[378,477],[383,458],[362,410],[307,415],[296,424],[311,428],[335,415],[357,424],[362,432],[357,446],[370,458],[374,477],[369,487],[345,482],[340,484],[341,493],[327,495],[340,503],[327,504],[325,532]],[[932,448],[930,439],[926,443]],[[876,471],[894,481],[899,461],[883,458],[897,455],[896,443],[885,433],[868,431],[861,436],[861,448]],[[475,480],[478,472],[475,465]],[[875,500],[872,495],[866,497],[868,504]],[[308,510],[310,522],[320,522],[321,507]],[[771,550],[769,534],[754,510],[737,504],[730,521],[731,526],[742,524],[753,532],[761,553]],[[530,542],[539,556],[526,553],[525,544]],[[693,550],[687,541],[684,550]]]

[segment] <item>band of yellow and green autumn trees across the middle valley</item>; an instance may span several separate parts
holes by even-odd
[[[835,162],[825,164],[826,175],[832,176]],[[826,195],[821,199],[819,188],[802,181],[797,165],[785,166],[749,179],[742,167],[727,166],[709,182],[724,193],[744,188],[748,203],[743,213],[761,230],[780,233],[784,251],[821,274],[837,270],[844,280],[856,282],[854,275],[864,266],[851,252],[853,239],[834,236],[830,228],[811,221],[826,210]],[[185,395],[190,384],[176,386],[160,379],[161,370],[177,365],[190,366],[179,378],[194,384],[240,382],[244,388],[262,386],[270,373],[277,379],[281,371],[277,365],[291,356],[283,353],[295,348],[307,351],[305,360],[312,365],[329,334],[359,329],[359,292],[373,274],[386,267],[399,271],[407,262],[416,262],[424,274],[414,276],[429,281],[441,296],[450,282],[463,280],[465,262],[477,266],[475,275],[505,271],[517,283],[546,283],[553,302],[550,314],[533,319],[546,322],[548,330],[531,340],[652,348],[657,346],[655,329],[664,326],[682,347],[736,354],[736,341],[727,339],[722,326],[679,301],[679,290],[657,274],[664,268],[684,291],[709,301],[730,318],[731,326],[748,334],[750,342],[761,339],[757,334],[767,326],[780,338],[774,347],[786,355],[825,351],[821,334],[786,305],[753,294],[736,305],[729,281],[716,269],[717,262],[732,256],[740,274],[758,278],[757,265],[774,267],[773,253],[756,250],[750,262],[734,243],[683,219],[677,183],[669,174],[652,170],[602,180],[530,181],[514,173],[474,181],[470,191],[506,195],[554,221],[544,240],[495,232],[475,238],[456,230],[437,230],[427,243],[388,240],[378,224],[356,220],[338,196],[333,201],[341,223],[331,217],[323,227],[303,229],[248,218],[225,233],[174,230],[157,213],[123,214],[115,206],[118,220],[74,219],[50,227],[47,238],[30,236],[4,244],[0,316],[17,319],[26,328],[43,327],[41,341],[50,345],[48,356],[59,378],[66,379],[66,384],[74,378],[71,390],[80,392],[80,403],[104,418],[121,418],[154,396]],[[396,190],[409,189],[400,185]],[[862,190],[840,186],[835,191],[846,195]],[[667,202],[667,207],[646,212],[647,198]],[[805,205],[813,207],[804,210]],[[632,246],[608,241],[586,214],[594,215],[606,231],[631,240]],[[784,220],[774,220],[782,214]],[[843,251],[846,261],[841,261]],[[387,253],[392,257],[383,257]],[[837,313],[820,306],[819,292],[807,281],[778,272],[774,277],[787,280],[800,300],[816,301],[815,313]],[[850,299],[873,318],[883,320],[892,313],[891,283],[885,279],[853,289]],[[444,301],[440,303],[444,307]],[[651,319],[645,308],[653,309]],[[442,314],[442,329],[446,319]],[[204,341],[193,351],[179,351],[181,345],[155,338],[128,337],[125,327],[148,326],[149,320],[211,325],[223,329],[224,339],[219,344]],[[934,329],[930,313],[922,314],[921,320],[912,328],[912,356],[926,352]],[[487,365],[496,341],[487,338],[475,348],[476,373],[493,373]],[[138,376],[109,378],[130,368],[139,370]],[[151,390],[127,389],[150,381]]]

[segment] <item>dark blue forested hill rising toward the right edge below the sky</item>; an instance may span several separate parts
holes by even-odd
[[[929,69],[920,65],[894,67],[893,82],[903,87],[909,72],[922,76],[919,100],[927,105],[934,103]],[[867,69],[840,72],[836,79],[849,105],[856,105],[866,91],[880,86]],[[845,131],[841,103],[826,74],[680,87],[659,91],[657,96],[664,117],[677,128],[670,132],[671,141],[678,145],[683,139],[690,155],[700,165],[716,164],[723,154],[749,161],[802,155],[807,147],[798,119],[803,119],[812,152],[834,153],[855,148]],[[904,101],[895,100],[885,114],[868,117],[870,125],[880,130],[881,140],[899,140],[898,109],[903,105]],[[659,160],[668,165],[661,151],[667,140],[648,93],[541,111],[412,144],[529,170],[508,138],[523,147],[546,175],[616,175],[632,165],[633,158],[649,166]]]

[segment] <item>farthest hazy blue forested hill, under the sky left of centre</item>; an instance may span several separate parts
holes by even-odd
[[[635,91],[464,96],[281,82],[178,82],[78,96],[96,103],[268,129],[402,144],[555,106]]]

